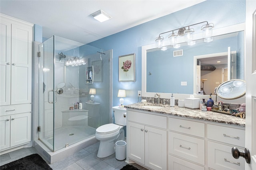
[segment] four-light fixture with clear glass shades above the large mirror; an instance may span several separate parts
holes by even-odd
[[[179,36],[185,36],[185,41],[188,42],[188,45],[194,45],[196,44],[196,42],[193,42],[193,33],[194,33],[194,28],[190,28],[190,26],[193,25],[197,25],[197,24],[201,24],[201,23],[206,23],[205,25],[202,25],[201,30],[203,30],[203,38],[204,38],[204,42],[208,43],[213,41],[213,37],[212,37],[212,28],[214,27],[213,23],[208,23],[208,21],[203,21],[200,23],[195,23],[192,25],[188,25],[186,27],[181,27],[178,29],[174,29],[171,31],[167,31],[164,33],[160,33],[159,36],[156,38],[156,47],[161,48],[162,47],[162,41],[164,41],[164,37],[162,36],[162,34],[165,33],[169,33],[172,32],[171,34],[169,34],[168,38],[170,39],[170,44],[175,47],[176,43],[177,43],[177,37]],[[186,29],[187,28],[187,29]],[[174,31],[178,30],[176,33]],[[190,43],[192,42],[192,43]]]

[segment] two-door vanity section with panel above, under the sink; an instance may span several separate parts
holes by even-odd
[[[154,170],[167,169],[167,117],[127,113],[127,157]]]

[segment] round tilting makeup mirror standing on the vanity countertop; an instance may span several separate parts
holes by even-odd
[[[237,99],[245,95],[246,83],[244,80],[228,80],[216,90],[216,94],[222,99]]]

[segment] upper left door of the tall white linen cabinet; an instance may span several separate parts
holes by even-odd
[[[11,101],[11,23],[1,18],[0,23],[0,106]]]

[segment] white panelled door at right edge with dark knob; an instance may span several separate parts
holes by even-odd
[[[246,137],[251,155],[246,170],[256,170],[256,1],[246,0]],[[240,150],[242,152],[243,150]]]

